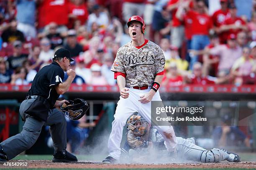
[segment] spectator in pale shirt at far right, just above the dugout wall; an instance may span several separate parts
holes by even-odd
[[[231,73],[235,76],[235,84],[245,84],[243,78],[246,78],[253,72],[254,62],[250,58],[251,49],[249,47],[243,48],[243,55],[238,58],[231,68]]]

